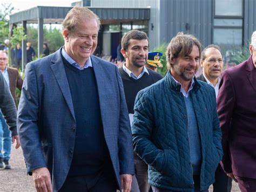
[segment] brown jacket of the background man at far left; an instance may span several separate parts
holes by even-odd
[[[17,107],[17,97],[16,97],[15,89],[16,89],[16,87],[19,90],[22,89],[23,80],[22,80],[21,75],[19,75],[18,69],[8,67],[7,71],[8,71],[8,75],[9,75],[9,81],[10,81],[11,95],[14,98],[14,102],[15,102],[16,107]]]

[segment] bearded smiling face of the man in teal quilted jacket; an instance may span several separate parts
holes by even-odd
[[[171,59],[169,62],[174,79],[181,84],[191,81],[199,67],[199,58],[199,49],[194,45],[190,54]]]

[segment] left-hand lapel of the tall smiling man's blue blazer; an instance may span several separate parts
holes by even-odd
[[[59,51],[56,52],[55,55],[53,55],[53,58],[51,60],[51,62],[53,63],[51,65],[51,69],[53,74],[56,77],[56,81],[58,82],[59,88],[62,91],[65,101],[69,106],[71,114],[73,118],[76,119],[74,108],[73,108],[72,97],[70,93],[70,88],[69,88],[69,82],[66,77],[65,67],[62,61],[61,50],[62,48],[60,48]]]

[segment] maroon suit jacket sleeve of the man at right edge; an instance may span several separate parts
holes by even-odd
[[[217,97],[217,108],[220,120],[220,128],[223,133],[223,160],[221,165],[226,173],[232,173],[230,150],[228,146],[228,135],[230,133],[230,123],[233,115],[235,103],[235,93],[232,80],[227,72],[223,72],[220,80],[220,89]]]

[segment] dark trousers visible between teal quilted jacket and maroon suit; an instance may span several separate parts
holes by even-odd
[[[215,182],[213,183],[213,192],[230,192],[232,188],[232,179],[227,176],[224,170],[218,165],[215,171]]]

